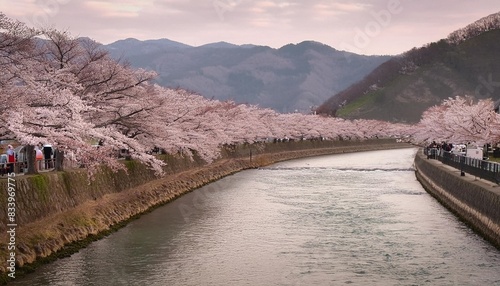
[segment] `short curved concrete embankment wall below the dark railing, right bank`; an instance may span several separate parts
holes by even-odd
[[[500,186],[460,170],[415,156],[417,179],[422,186],[471,228],[500,248]]]

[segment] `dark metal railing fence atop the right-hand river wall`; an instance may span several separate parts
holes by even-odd
[[[467,173],[496,184],[500,183],[500,164],[496,162],[470,158],[436,148],[425,148],[424,154],[428,159],[439,160],[445,165],[460,170],[462,176]]]

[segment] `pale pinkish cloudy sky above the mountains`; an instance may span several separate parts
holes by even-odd
[[[499,0],[0,0],[0,12],[109,44],[170,39],[396,55],[500,12]]]

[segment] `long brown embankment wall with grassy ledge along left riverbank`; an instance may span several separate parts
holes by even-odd
[[[86,170],[42,173],[15,178],[16,265],[52,257],[68,244],[88,239],[176,197],[235,172],[271,163],[346,152],[410,147],[395,140],[299,141],[224,148],[222,158],[205,163],[181,155],[163,155],[166,175],[157,178],[135,161],[127,172],[97,171],[92,181]],[[0,180],[0,204],[7,205],[7,180]],[[9,257],[7,215],[0,213],[0,261]],[[0,272],[7,273],[7,264]]]

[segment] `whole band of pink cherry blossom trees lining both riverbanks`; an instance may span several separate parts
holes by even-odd
[[[491,102],[473,105],[465,99],[431,108],[418,126],[279,114],[208,100],[186,90],[155,85],[154,73],[112,59],[92,40],[53,29],[31,29],[1,13],[0,66],[0,105],[4,111],[0,136],[28,146],[52,144],[73,154],[89,170],[99,164],[122,167],[112,155],[117,149],[128,149],[133,158],[161,173],[164,163],[150,154],[153,148],[185,154],[195,151],[211,161],[218,157],[222,145],[266,138],[408,134],[421,141],[465,138],[460,134],[469,136],[466,140],[479,140],[493,135],[484,126],[496,118],[490,112]],[[464,106],[471,108],[466,111],[470,118],[459,120]],[[91,142],[98,141],[102,146],[93,147]]]

